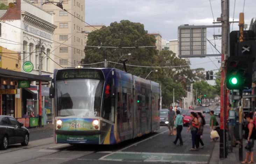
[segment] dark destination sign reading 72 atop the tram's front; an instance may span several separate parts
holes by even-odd
[[[104,79],[100,69],[65,69],[58,70],[56,80],[62,79]]]

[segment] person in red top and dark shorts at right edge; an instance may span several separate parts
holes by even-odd
[[[253,147],[254,147],[254,135],[255,135],[255,125],[253,122],[253,112],[246,114],[246,120],[248,122],[246,126],[246,130],[244,133],[244,139],[246,139],[246,159],[242,163],[254,163],[253,158]],[[248,158],[251,158],[251,160],[248,162]]]

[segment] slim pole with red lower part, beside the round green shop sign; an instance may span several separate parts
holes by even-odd
[[[39,40],[39,75],[42,75],[42,40]],[[42,81],[39,81],[38,90],[38,126],[42,127]]]

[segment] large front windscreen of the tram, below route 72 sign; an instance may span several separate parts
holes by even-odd
[[[66,72],[59,73],[66,75]],[[81,76],[71,78],[69,75],[58,75],[57,77],[67,77],[66,79],[56,78],[57,116],[80,118],[100,116],[104,79],[84,79]],[[72,73],[72,77],[74,77],[74,73]]]

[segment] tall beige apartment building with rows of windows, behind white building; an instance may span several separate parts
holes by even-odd
[[[80,64],[81,59],[85,57],[85,0],[67,0],[63,1],[63,9],[57,7],[48,0],[30,0],[34,4],[40,6],[49,13],[52,13],[54,24],[57,26],[53,40],[63,43],[55,43],[55,61],[62,67],[75,67]],[[51,0],[56,2],[56,0]],[[43,4],[43,5],[42,5]],[[55,3],[56,4],[56,3]],[[76,16],[76,17],[75,17]],[[55,64],[55,68],[61,68]]]

